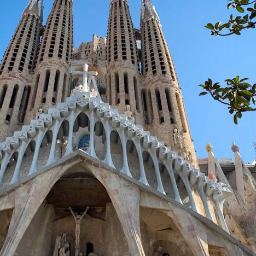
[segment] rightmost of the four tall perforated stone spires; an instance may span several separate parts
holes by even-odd
[[[147,129],[196,164],[181,88],[151,0],[142,1],[141,38],[142,101]]]

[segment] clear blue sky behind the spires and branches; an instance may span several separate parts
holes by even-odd
[[[28,0],[1,1],[0,55],[7,47]],[[44,22],[53,0],[43,0]],[[92,34],[106,36],[109,0],[74,0],[74,46],[91,40]],[[208,22],[226,21],[228,1],[152,0],[161,19],[162,29],[173,56],[174,65],[185,98],[189,124],[197,156],[206,157],[205,144],[211,142],[217,158],[230,158],[231,143],[240,147],[246,162],[255,158],[256,113],[246,113],[236,126],[225,106],[210,96],[199,97],[198,84],[207,78],[223,82],[226,78],[251,78],[256,83],[256,31],[242,36],[212,37],[203,26]],[[130,0],[135,27],[139,27],[140,0]],[[232,10],[233,11],[233,10]]]

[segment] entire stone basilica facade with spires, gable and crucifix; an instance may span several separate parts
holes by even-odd
[[[0,255],[255,255],[255,167],[196,158],[152,1],[77,49],[75,2],[42,2],[0,65]]]

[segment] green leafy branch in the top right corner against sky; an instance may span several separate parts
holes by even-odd
[[[255,28],[256,25],[256,0],[228,0],[228,9],[235,8],[239,13],[246,13],[244,16],[230,15],[228,22],[222,25],[222,22],[217,22],[215,25],[208,23],[205,27],[211,30],[212,35],[230,36],[231,34],[240,35],[242,30],[246,28]],[[222,33],[222,31],[228,31]]]

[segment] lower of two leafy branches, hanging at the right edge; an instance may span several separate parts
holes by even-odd
[[[226,79],[226,87],[208,79],[205,84],[200,84],[205,91],[200,96],[210,94],[214,100],[219,101],[229,107],[229,113],[234,114],[234,123],[238,124],[237,119],[242,117],[243,112],[256,111],[251,107],[256,104],[256,84],[251,85],[246,81],[248,78],[240,79],[239,76],[233,79]]]

